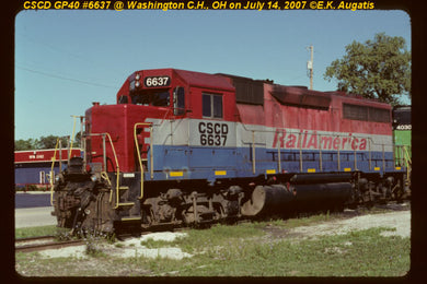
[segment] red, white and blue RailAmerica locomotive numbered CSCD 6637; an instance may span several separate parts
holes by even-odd
[[[58,226],[113,232],[399,200],[391,106],[176,69],[134,72],[82,120]]]

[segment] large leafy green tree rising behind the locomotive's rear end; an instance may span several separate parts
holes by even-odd
[[[326,68],[324,79],[335,78],[338,91],[400,104],[401,95],[411,98],[411,52],[403,37],[377,34],[365,44],[353,42],[346,55]]]

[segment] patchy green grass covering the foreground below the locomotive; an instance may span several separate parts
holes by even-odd
[[[325,213],[287,221],[219,224],[209,229],[185,229],[186,237],[172,242],[142,242],[149,248],[178,247],[194,256],[182,260],[107,253],[89,253],[79,260],[42,259],[37,253],[16,253],[16,271],[33,276],[402,276],[408,272],[411,240],[380,235],[390,228],[297,242],[286,235],[273,238],[265,232],[266,227],[287,232],[335,217],[339,216]]]

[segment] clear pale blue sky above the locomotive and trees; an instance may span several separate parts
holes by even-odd
[[[390,11],[21,11],[15,17],[15,140],[71,135],[92,102],[115,104],[128,75],[176,68],[336,90],[323,74],[354,40],[402,36],[411,17]],[[404,100],[409,103],[408,100]],[[78,126],[78,129],[80,126]]]

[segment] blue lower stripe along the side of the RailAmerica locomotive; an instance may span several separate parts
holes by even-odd
[[[277,149],[255,147],[255,174],[253,174],[253,157],[251,147],[201,147],[154,145],[153,180],[164,179],[207,179],[212,182],[218,178],[255,177],[275,169],[278,174]],[[150,161],[149,151],[149,158]],[[339,169],[337,151],[322,151],[322,170],[320,168],[319,151],[302,150],[302,171],[300,171],[300,151],[280,151],[281,169],[286,173],[327,173],[355,169],[353,151],[339,152]],[[403,171],[396,170],[393,163],[393,152],[383,153],[357,152],[357,169],[365,173]],[[150,166],[150,163],[148,163]],[[171,175],[178,173],[177,175]],[[217,174],[216,174],[217,171]],[[223,175],[227,171],[227,175]],[[168,174],[168,175],[166,175]],[[145,173],[145,179],[150,180],[150,173]]]

